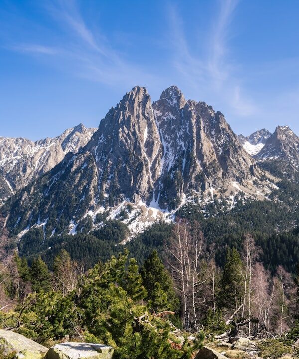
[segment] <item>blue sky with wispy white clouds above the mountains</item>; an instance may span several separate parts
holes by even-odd
[[[0,136],[97,127],[135,85],[177,85],[237,133],[299,134],[297,0],[0,0]]]

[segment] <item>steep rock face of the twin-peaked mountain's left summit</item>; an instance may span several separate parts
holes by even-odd
[[[149,201],[159,178],[162,146],[145,88],[135,87],[108,112],[86,150],[95,159],[101,202]]]

